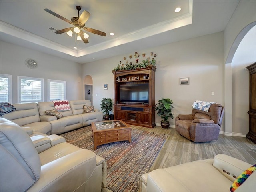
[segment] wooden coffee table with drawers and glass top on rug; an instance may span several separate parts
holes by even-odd
[[[97,146],[116,141],[131,140],[131,127],[122,120],[92,122],[94,149]]]

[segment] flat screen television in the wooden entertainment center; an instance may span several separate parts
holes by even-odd
[[[119,86],[120,103],[149,103],[149,83]]]

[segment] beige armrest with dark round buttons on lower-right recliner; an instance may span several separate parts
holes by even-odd
[[[213,166],[226,178],[234,182],[236,179],[233,176],[238,177],[252,165],[228,155],[218,154],[214,157]]]

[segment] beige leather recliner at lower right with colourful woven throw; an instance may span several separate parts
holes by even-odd
[[[246,162],[218,154],[205,159],[156,169],[140,176],[140,192],[228,192],[244,170]],[[235,192],[255,192],[256,172],[253,172]]]

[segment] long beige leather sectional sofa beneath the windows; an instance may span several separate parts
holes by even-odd
[[[100,110],[92,113],[83,113],[84,105],[91,105],[89,100],[69,101],[71,110],[59,111],[64,117],[47,115],[46,110],[53,110],[53,102],[38,102],[13,104],[15,111],[3,115],[3,118],[15,122],[22,128],[29,128],[44,134],[61,134],[86,125],[91,122],[102,121],[103,114]]]

